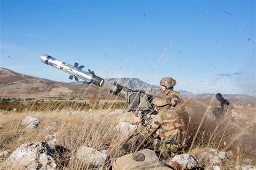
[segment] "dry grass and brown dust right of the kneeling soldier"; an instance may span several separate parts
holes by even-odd
[[[192,154],[202,167],[210,168],[210,154],[201,154],[206,152],[207,148],[215,148],[216,152],[211,153],[216,156],[219,151],[232,153],[228,160],[222,162],[223,168],[234,168],[235,165],[249,165],[243,162],[244,159],[251,159],[250,165],[255,165],[255,134],[256,119],[254,105],[241,104],[234,105],[233,111],[237,112],[240,119],[234,119],[231,116],[225,116],[223,119],[215,120],[212,109],[217,105],[211,101],[187,102],[186,110],[190,116],[190,125],[188,126],[188,143],[190,145],[190,154]],[[201,126],[200,126],[201,124]],[[199,128],[200,126],[200,128]],[[196,134],[196,132],[198,133]]]

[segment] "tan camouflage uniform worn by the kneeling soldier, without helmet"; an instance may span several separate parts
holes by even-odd
[[[162,98],[163,99],[163,98]],[[184,110],[183,99],[177,91],[171,91],[165,100],[156,104],[159,108],[157,115],[147,115],[144,125],[139,131],[144,137],[154,139],[156,145],[166,145],[172,152],[176,152],[185,142],[185,123],[180,116]]]

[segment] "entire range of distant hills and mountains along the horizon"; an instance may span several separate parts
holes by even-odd
[[[102,99],[110,99],[114,96],[109,94],[109,87],[113,82],[119,83],[130,89],[144,90],[147,93],[159,93],[158,86],[150,85],[137,78],[119,78],[105,79],[104,87],[99,88],[93,84],[83,84],[83,81],[64,83],[48,79],[41,79],[34,76],[28,76],[13,72],[12,70],[0,67],[0,96],[2,97],[41,97],[41,98],[57,98],[57,97],[78,97],[82,94],[82,98],[88,99],[91,94],[99,94]],[[84,94],[86,93],[86,94]],[[215,94],[194,94],[190,91],[179,90],[183,98],[212,98]],[[223,94],[227,99],[243,102],[254,102],[256,97],[243,94]],[[120,100],[120,98],[118,98]]]

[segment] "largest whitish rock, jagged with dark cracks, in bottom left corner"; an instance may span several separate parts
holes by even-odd
[[[4,166],[11,169],[53,169],[57,167],[51,148],[45,141],[21,145],[5,160]]]

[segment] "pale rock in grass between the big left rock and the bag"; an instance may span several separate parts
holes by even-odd
[[[83,161],[85,164],[90,164],[93,168],[98,168],[102,166],[104,161],[106,160],[106,151],[98,151],[94,148],[81,146],[78,148],[76,153],[76,158],[79,161]]]

